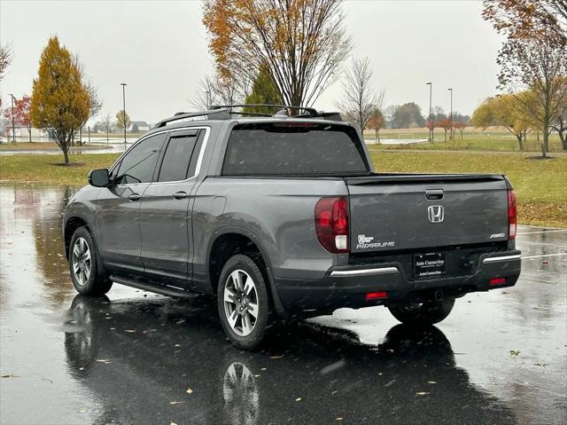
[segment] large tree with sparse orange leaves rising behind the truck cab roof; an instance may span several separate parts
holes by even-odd
[[[253,81],[266,67],[287,105],[310,106],[352,49],[340,0],[205,0],[217,71]]]

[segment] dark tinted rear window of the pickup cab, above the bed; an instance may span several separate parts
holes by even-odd
[[[222,167],[225,176],[368,175],[352,127],[312,122],[237,125]]]

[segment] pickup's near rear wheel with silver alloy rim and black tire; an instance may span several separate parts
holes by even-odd
[[[217,303],[224,333],[241,350],[253,350],[268,327],[269,299],[263,264],[250,256],[229,258],[221,271]]]

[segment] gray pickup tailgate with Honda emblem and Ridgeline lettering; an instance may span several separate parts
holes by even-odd
[[[508,239],[503,176],[375,174],[345,180],[353,253]]]

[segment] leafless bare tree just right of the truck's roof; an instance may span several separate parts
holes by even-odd
[[[368,58],[353,59],[346,69],[342,100],[337,105],[361,131],[368,126],[372,113],[384,103],[384,91],[374,91],[373,74]]]

